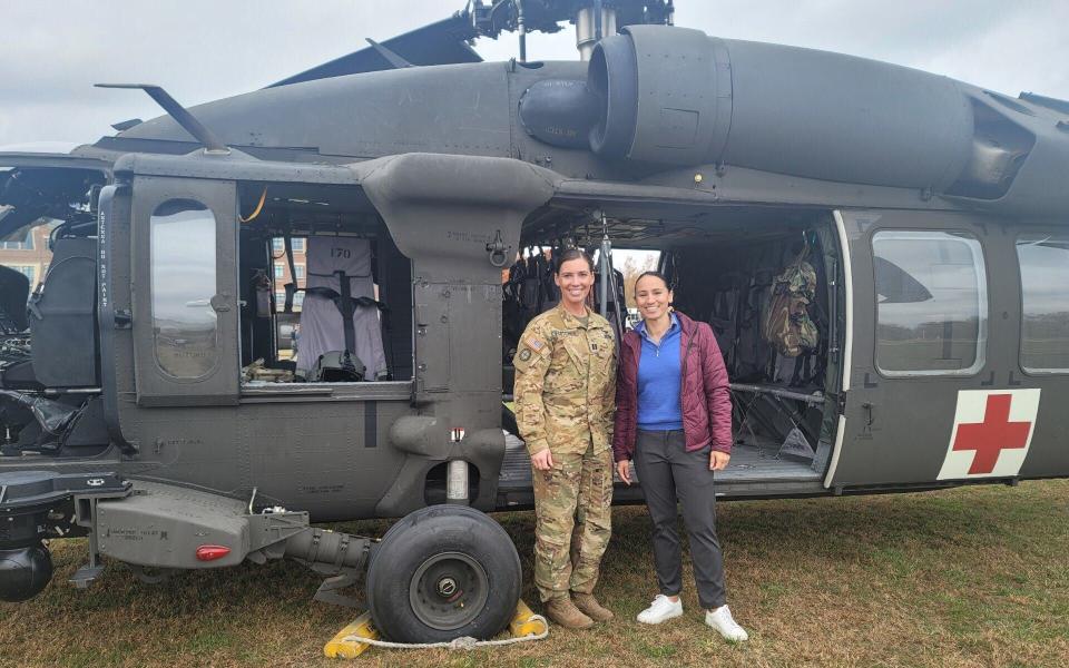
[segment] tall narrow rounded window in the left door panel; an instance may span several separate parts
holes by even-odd
[[[149,220],[156,363],[176,379],[199,379],[219,357],[215,215],[190,199],[159,205]]]

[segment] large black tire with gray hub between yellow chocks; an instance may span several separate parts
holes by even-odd
[[[511,621],[521,579],[500,524],[465,505],[431,505],[386,531],[367,567],[367,607],[398,642],[482,640]]]

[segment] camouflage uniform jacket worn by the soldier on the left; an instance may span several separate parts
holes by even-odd
[[[616,337],[607,320],[591,312],[583,326],[558,305],[527,325],[513,364],[516,422],[531,454],[610,446]]]

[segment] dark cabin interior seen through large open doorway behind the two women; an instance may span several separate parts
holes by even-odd
[[[608,244],[606,244],[606,238]],[[722,483],[735,490],[768,482],[820,487],[837,424],[838,348],[843,331],[834,289],[838,240],[831,212],[723,206],[696,210],[616,204],[546,207],[524,224],[522,256],[504,284],[503,362],[511,387],[511,355],[523,326],[559,299],[551,276],[561,247],[589,252],[597,266],[595,307],[618,334],[638,322],[634,279],[656,269],[669,281],[674,307],[708,323],[730,379],[735,443]],[[608,255],[612,279],[601,289]],[[803,345],[783,346],[773,312],[786,306],[792,278],[805,277],[806,296],[790,310],[807,323]],[[795,286],[797,287],[797,285]],[[781,295],[779,302],[775,295]],[[629,301],[630,299],[630,301]],[[619,315],[617,315],[619,314]],[[507,396],[507,399],[511,399]],[[513,423],[514,425],[514,423]],[[510,438],[502,484],[530,475],[519,439]],[[632,472],[634,473],[634,472]]]

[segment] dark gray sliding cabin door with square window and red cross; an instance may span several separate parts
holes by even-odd
[[[1017,259],[1003,228],[934,212],[842,212],[836,223],[852,336],[825,484],[1016,478],[1039,392],[1018,367]]]

